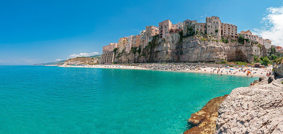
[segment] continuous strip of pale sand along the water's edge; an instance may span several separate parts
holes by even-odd
[[[140,69],[140,70],[158,70],[158,71],[182,71],[182,72],[196,72],[196,73],[210,73],[211,74],[211,71],[213,72],[214,70],[214,73],[212,74],[219,74],[219,75],[227,75],[227,76],[247,76],[246,75],[246,72],[238,72],[238,70],[240,69],[235,69],[233,67],[230,67],[231,69],[234,69],[234,70],[231,70],[231,72],[229,72],[230,69],[228,68],[216,68],[216,67],[205,67],[205,68],[200,68],[198,70],[161,70],[161,69],[148,69],[148,68],[144,68],[144,67],[137,67],[137,66],[125,66],[125,65],[84,65],[84,66],[70,66],[70,65],[61,65],[61,66],[58,66],[58,67],[79,67],[79,68],[113,68],[113,69]],[[266,73],[269,71],[269,69],[272,69],[272,67],[267,67],[266,69],[263,69],[263,68],[248,68],[248,67],[243,67],[244,69],[252,69],[251,70],[251,73],[254,73],[254,74],[249,74],[247,77],[250,77],[250,76],[254,76],[254,77],[261,77],[261,76],[266,76]],[[222,73],[219,72],[217,73],[216,70],[219,70],[220,71],[223,71]],[[253,69],[258,69],[257,71],[256,70],[253,70]],[[204,71],[205,70],[205,71]],[[228,72],[228,74],[227,74]],[[235,73],[235,74],[233,74]],[[262,74],[261,74],[262,73]]]

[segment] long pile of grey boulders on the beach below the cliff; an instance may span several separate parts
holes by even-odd
[[[192,69],[201,69],[208,67],[207,65],[184,65],[184,64],[143,64],[138,65],[137,67],[143,67],[152,70],[192,70]]]

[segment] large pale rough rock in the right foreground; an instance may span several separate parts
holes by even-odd
[[[269,78],[261,78],[268,80]],[[220,104],[217,134],[283,132],[283,79],[232,90]]]

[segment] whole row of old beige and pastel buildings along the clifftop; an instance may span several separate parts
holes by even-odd
[[[152,41],[153,36],[157,35],[158,38],[170,37],[172,33],[182,32],[184,35],[192,35],[195,33],[203,33],[207,35],[215,36],[219,40],[221,37],[229,37],[230,39],[237,40],[240,35],[250,41],[258,42],[265,48],[275,48],[281,52],[282,47],[271,45],[269,39],[263,39],[257,35],[253,35],[250,30],[241,31],[238,33],[238,27],[234,24],[222,23],[219,17],[211,16],[206,17],[205,23],[199,23],[196,20],[185,20],[172,24],[170,20],[164,20],[158,23],[157,26],[146,26],[145,30],[142,30],[138,35],[131,35],[128,37],[122,37],[118,40],[118,43],[110,43],[107,46],[102,47],[102,55],[100,63],[111,63],[114,59],[114,51],[129,53],[132,47],[145,48],[149,41]]]

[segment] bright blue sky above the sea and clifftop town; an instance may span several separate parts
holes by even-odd
[[[1,1],[0,63],[31,65],[97,55],[146,25],[218,16],[283,46],[281,1]],[[282,23],[283,24],[283,23]],[[274,29],[277,31],[274,31]],[[280,38],[280,39],[279,39]],[[278,39],[278,40],[277,40]],[[276,41],[277,40],[277,41]],[[84,54],[85,53],[85,54]]]

